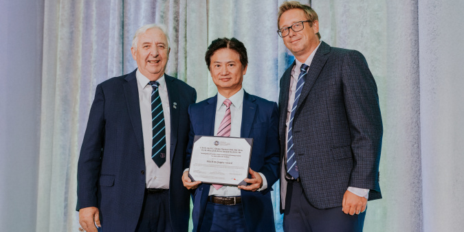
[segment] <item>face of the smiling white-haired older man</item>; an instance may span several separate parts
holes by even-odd
[[[164,74],[169,58],[168,40],[157,28],[146,30],[137,41],[137,49],[131,48],[137,67],[149,80],[157,80]]]

